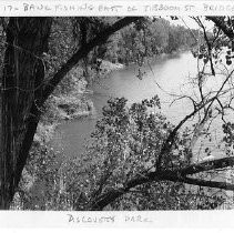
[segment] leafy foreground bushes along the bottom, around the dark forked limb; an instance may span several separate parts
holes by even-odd
[[[109,100],[88,152],[80,159],[63,160],[47,144],[33,144],[26,166],[28,175],[19,191],[22,210],[89,210],[102,193],[153,170],[162,143],[174,126],[159,112],[156,95],[131,107],[126,103],[124,98]],[[180,150],[173,149],[172,160],[166,162],[174,166],[187,163],[187,130],[177,135]],[[30,178],[35,179],[31,186],[27,185]],[[41,185],[42,193],[33,193],[33,185],[35,190]],[[215,209],[223,202],[224,197],[207,190],[161,181],[132,189],[105,210],[200,210]]]

